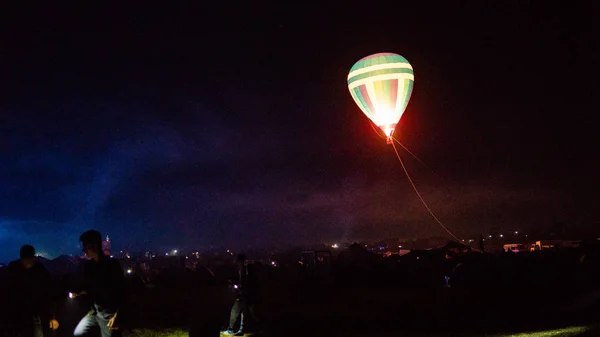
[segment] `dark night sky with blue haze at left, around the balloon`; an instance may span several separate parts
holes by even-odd
[[[132,249],[443,235],[347,90],[384,51],[415,69],[396,136],[452,231],[598,224],[594,2],[282,3],[3,4],[0,261],[89,228]]]

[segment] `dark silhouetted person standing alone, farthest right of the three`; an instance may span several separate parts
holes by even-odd
[[[237,282],[234,287],[237,289],[237,298],[231,308],[229,316],[229,327],[224,331],[226,334],[234,336],[243,336],[246,330],[246,317],[248,313],[258,322],[256,315],[256,302],[258,300],[258,284],[256,272],[252,266],[246,263],[246,255],[239,254],[237,263]],[[240,328],[234,333],[234,327],[239,318]]]

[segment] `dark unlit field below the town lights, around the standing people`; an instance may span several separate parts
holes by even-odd
[[[600,336],[596,253],[469,253],[450,269],[449,260],[427,254],[340,257],[322,270],[258,265],[260,330],[289,337]],[[152,286],[128,275],[125,333],[218,336],[235,298],[227,286],[232,272],[163,271]],[[86,311],[81,298],[61,300],[57,336],[71,336]]]

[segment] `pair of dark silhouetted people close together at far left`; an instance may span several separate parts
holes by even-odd
[[[119,336],[122,317],[127,315],[123,269],[118,260],[102,252],[98,231],[83,233],[80,241],[88,261],[81,282],[69,289],[68,296],[84,296],[89,311],[72,334],[79,337],[97,330],[102,337]],[[38,262],[33,246],[21,247],[19,259],[3,270],[1,279],[3,335],[42,337],[59,329],[58,303],[66,292]]]

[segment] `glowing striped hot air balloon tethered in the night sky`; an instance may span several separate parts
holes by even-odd
[[[414,82],[413,68],[394,53],[378,53],[360,59],[348,74],[348,89],[356,104],[392,144]]]

